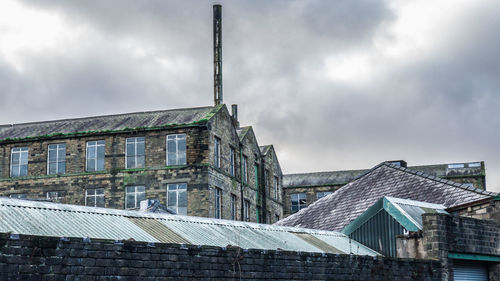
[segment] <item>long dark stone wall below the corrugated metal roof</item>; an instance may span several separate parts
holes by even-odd
[[[0,235],[1,280],[441,280],[437,261]]]

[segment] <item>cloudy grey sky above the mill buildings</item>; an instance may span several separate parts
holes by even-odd
[[[2,0],[0,123],[213,103],[212,1]],[[226,104],[286,173],[486,161],[500,2],[218,1]]]

